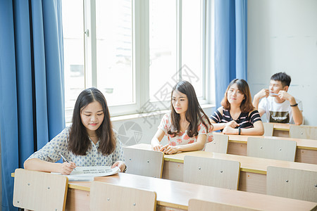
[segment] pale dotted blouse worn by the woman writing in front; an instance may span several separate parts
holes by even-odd
[[[54,137],[49,143],[41,148],[39,151],[33,153],[30,158],[39,158],[40,160],[48,162],[56,162],[61,159],[61,155],[64,155],[69,161],[75,162],[77,166],[111,166],[116,161],[124,161],[122,143],[118,137],[116,131],[113,133],[116,136],[116,149],[110,155],[102,155],[99,148],[99,141],[94,144],[91,141],[91,147],[87,150],[87,155],[74,155],[68,151],[68,138],[70,127],[66,127],[63,131]]]

